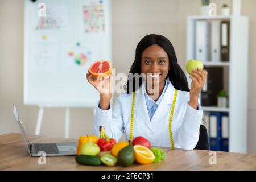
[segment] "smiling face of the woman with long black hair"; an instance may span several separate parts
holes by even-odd
[[[155,86],[164,84],[168,71],[168,55],[158,44],[153,44],[142,52],[141,72],[146,74],[147,83]]]

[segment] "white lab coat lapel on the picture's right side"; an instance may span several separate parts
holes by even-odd
[[[166,89],[166,93],[164,93],[164,96],[158,106],[158,109],[156,109],[155,114],[151,119],[151,123],[154,123],[155,121],[157,122],[160,115],[170,113],[171,111],[172,101],[174,100],[175,88],[170,81],[167,81],[167,83],[168,87]]]

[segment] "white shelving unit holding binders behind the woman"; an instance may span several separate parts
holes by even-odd
[[[249,18],[246,16],[188,16],[187,60],[195,59],[195,21],[229,20],[229,62],[205,61],[207,67],[228,69],[229,108],[202,107],[204,111],[229,113],[229,152],[247,152],[247,71],[249,45]],[[187,75],[188,76],[188,75]],[[190,81],[190,79],[188,78]],[[190,85],[190,83],[189,83]]]

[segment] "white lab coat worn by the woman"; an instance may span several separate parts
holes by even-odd
[[[139,89],[145,89],[145,82]],[[168,131],[169,117],[174,98],[175,88],[168,81],[168,88],[155,111],[151,121],[144,93],[137,93],[134,105],[134,126],[133,137],[142,136],[148,139],[152,146],[171,147],[170,135]],[[117,98],[113,108],[102,110],[97,103],[96,114],[94,116],[94,134],[99,134],[99,127],[104,126],[109,137],[119,140],[123,132],[127,140],[130,138],[131,105],[133,93],[122,93]],[[175,148],[183,150],[193,150],[199,139],[199,128],[203,117],[203,110],[193,109],[188,104],[189,92],[178,90],[174,115],[172,118],[172,138]]]

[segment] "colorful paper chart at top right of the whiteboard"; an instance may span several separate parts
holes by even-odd
[[[103,0],[83,6],[84,26],[86,33],[105,31],[105,14]]]

